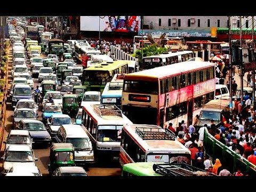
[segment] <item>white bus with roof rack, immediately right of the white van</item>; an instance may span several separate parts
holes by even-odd
[[[101,157],[118,159],[125,124],[132,122],[115,105],[86,103],[83,107],[82,126],[92,141],[94,156],[98,161],[103,159]]]

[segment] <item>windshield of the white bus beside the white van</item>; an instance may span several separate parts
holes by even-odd
[[[98,141],[121,141],[119,130],[123,125],[99,125]]]

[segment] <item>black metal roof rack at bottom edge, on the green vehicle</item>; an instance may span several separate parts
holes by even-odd
[[[217,176],[186,163],[154,164],[153,170],[164,176]]]

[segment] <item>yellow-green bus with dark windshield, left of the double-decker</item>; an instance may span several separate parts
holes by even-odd
[[[128,73],[127,61],[103,61],[83,70],[82,83],[87,87],[86,91],[102,93],[114,75],[120,73]]]

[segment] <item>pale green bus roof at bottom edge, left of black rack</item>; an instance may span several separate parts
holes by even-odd
[[[127,163],[123,166],[122,176],[162,176],[153,170],[154,162]]]

